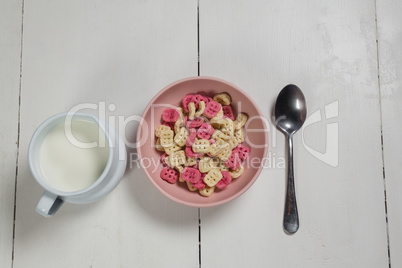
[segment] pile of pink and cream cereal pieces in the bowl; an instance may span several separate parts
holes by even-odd
[[[169,183],[186,182],[190,191],[211,196],[244,172],[242,161],[250,148],[243,145],[245,114],[235,116],[229,94],[210,98],[190,94],[182,107],[165,109],[163,123],[155,129],[156,149],[161,156],[161,178]]]

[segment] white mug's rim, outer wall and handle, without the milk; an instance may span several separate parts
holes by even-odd
[[[70,121],[71,120],[71,121]],[[88,187],[77,191],[61,191],[47,181],[41,166],[41,147],[48,134],[66,122],[87,121],[99,126],[107,141],[108,159],[101,175]],[[99,200],[110,193],[122,179],[127,163],[126,147],[114,129],[107,129],[104,122],[93,115],[83,113],[57,114],[43,122],[31,138],[28,149],[29,167],[36,181],[45,189],[36,212],[45,217],[53,216],[64,202],[84,204]]]

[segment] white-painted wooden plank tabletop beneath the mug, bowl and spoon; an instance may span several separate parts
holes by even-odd
[[[402,267],[402,2],[0,0],[0,267]],[[35,128],[81,103],[141,115],[180,78],[228,80],[270,122],[241,197],[191,208],[129,168],[110,195],[34,212]],[[285,139],[271,120],[297,84],[300,229],[282,230]],[[92,111],[95,112],[96,111]],[[134,141],[135,124],[127,125]]]

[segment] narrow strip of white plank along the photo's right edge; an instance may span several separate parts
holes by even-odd
[[[402,3],[377,1],[379,71],[385,185],[388,207],[390,259],[392,267],[402,266],[402,182],[400,148],[402,131]]]

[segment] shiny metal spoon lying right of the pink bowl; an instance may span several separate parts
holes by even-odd
[[[306,113],[306,100],[300,88],[295,85],[284,87],[276,100],[275,122],[285,133],[289,142],[288,182],[283,216],[283,228],[289,234],[293,234],[299,229],[293,175],[293,134],[303,125],[306,120]]]

